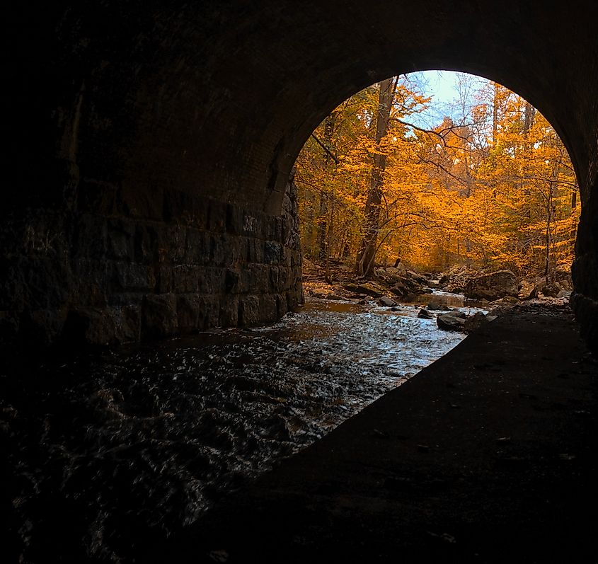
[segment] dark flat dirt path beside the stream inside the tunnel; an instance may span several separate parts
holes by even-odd
[[[146,560],[595,563],[597,376],[567,308],[505,313]]]

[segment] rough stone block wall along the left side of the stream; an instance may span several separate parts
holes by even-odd
[[[0,227],[4,350],[250,326],[303,301],[292,181],[280,216],[94,180],[76,192],[66,207],[21,210]]]

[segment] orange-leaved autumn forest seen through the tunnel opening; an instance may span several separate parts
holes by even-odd
[[[432,127],[418,119],[432,98],[410,75],[323,120],[296,164],[306,258],[366,277],[398,259],[546,282],[569,270],[579,202],[567,151],[524,98],[475,78],[459,75],[451,117]]]

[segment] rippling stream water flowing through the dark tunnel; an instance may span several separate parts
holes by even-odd
[[[417,312],[323,301],[2,375],[8,554],[132,562],[464,338]]]

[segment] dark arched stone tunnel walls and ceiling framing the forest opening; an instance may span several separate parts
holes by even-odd
[[[266,323],[302,299],[294,160],[342,100],[424,69],[498,81],[567,147],[572,304],[598,346],[593,4],[64,1],[14,14],[3,350]]]

